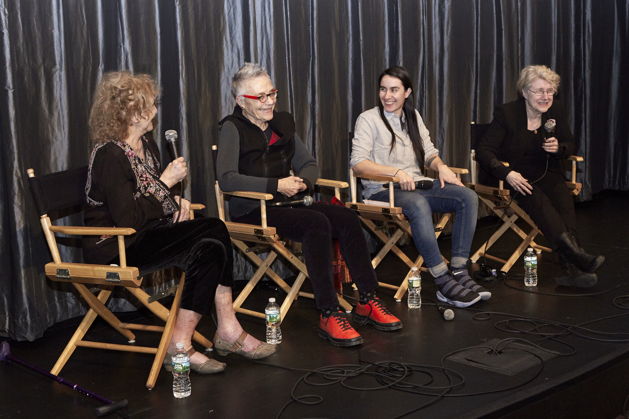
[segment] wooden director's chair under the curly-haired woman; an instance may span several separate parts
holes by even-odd
[[[79,209],[74,212],[80,212],[82,210],[81,206],[84,205],[86,198],[85,185],[87,181],[87,166],[73,170],[51,173],[50,175],[43,175],[41,177],[35,177],[33,169],[28,169],[26,172],[28,173],[31,187],[33,188],[33,197],[35,198],[37,210],[40,214],[42,214],[40,216],[40,221],[42,222],[43,232],[46,237],[46,241],[48,242],[48,248],[50,249],[50,253],[52,253],[53,261],[51,263],[47,263],[45,266],[46,276],[53,281],[72,283],[90,307],[83,318],[83,321],[76,332],[74,332],[74,335],[72,335],[72,339],[68,342],[64,352],[62,352],[59,359],[57,359],[57,362],[50,373],[57,375],[77,346],[113,349],[114,351],[142,352],[145,354],[155,354],[155,359],[153,359],[153,365],[151,367],[150,374],[148,374],[147,380],[147,388],[153,388],[153,386],[155,386],[155,381],[157,381],[159,369],[162,366],[162,362],[164,362],[164,356],[174,332],[175,320],[177,319],[179,303],[181,302],[181,293],[184,288],[185,273],[181,275],[181,280],[179,280],[178,285],[173,286],[164,293],[150,296],[145,293],[145,291],[140,290],[139,287],[142,284],[142,276],[140,275],[138,268],[126,266],[124,236],[129,236],[130,234],[135,233],[134,229],[125,227],[53,226],[50,222],[48,213],[62,209],[75,209],[76,207],[79,207]],[[190,219],[194,218],[192,210],[203,208],[205,208],[204,205],[191,204]],[[118,236],[120,266],[62,262],[57,248],[57,242],[55,241],[55,232],[79,236]],[[95,286],[95,288],[89,289],[86,284]],[[107,307],[105,307],[105,303],[107,302],[109,295],[111,295],[111,292],[114,290],[114,286],[123,286],[129,290],[130,293],[138,298],[138,300],[151,310],[151,312],[164,320],[166,325],[161,327],[143,324],[130,324],[123,323],[118,320],[118,318],[109,311]],[[157,300],[166,297],[175,291],[175,289],[175,299],[172,302],[170,310],[157,302]],[[99,291],[97,297],[92,293],[93,291]],[[108,344],[104,342],[82,340],[87,330],[92,325],[92,322],[96,319],[96,316],[101,316],[114,329],[118,330],[120,334],[128,339],[130,345]],[[135,335],[131,332],[131,330],[161,332],[162,339],[160,340],[158,347],[131,345],[135,343]],[[196,342],[206,348],[212,347],[212,342],[203,337],[203,335],[199,334],[199,332],[195,331],[192,339],[196,340]]]

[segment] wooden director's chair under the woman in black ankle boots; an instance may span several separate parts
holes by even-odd
[[[544,246],[540,246],[534,241],[537,234],[542,234],[542,232],[539,231],[533,220],[531,220],[531,217],[529,217],[528,214],[520,208],[517,204],[517,200],[511,199],[511,196],[509,196],[509,190],[504,189],[504,182],[502,180],[498,182],[498,188],[477,183],[479,167],[476,162],[476,148],[482,137],[487,132],[489,125],[490,124],[475,124],[474,122],[470,124],[470,144],[472,146],[472,150],[470,152],[470,169],[472,170],[472,178],[471,182],[466,185],[468,188],[476,191],[479,199],[484,202],[484,204],[486,204],[487,207],[494,212],[494,214],[501,217],[503,225],[500,226],[500,228],[496,230],[496,232],[494,232],[494,234],[492,234],[492,236],[489,237],[484,244],[482,244],[481,248],[479,248],[476,253],[470,256],[470,260],[472,262],[476,262],[479,258],[481,258],[481,256],[484,256],[487,259],[502,263],[503,268],[501,270],[508,272],[513,264],[520,259],[520,256],[524,253],[526,248],[533,248],[537,253],[542,253],[542,251],[552,253],[552,250]],[[565,185],[570,189],[570,193],[572,195],[578,195],[579,192],[581,192],[581,183],[576,182],[577,161],[583,161],[583,158],[579,156],[570,156],[567,160],[572,161],[572,179],[571,182],[565,182]],[[506,161],[502,161],[501,163],[503,163],[506,167],[509,167],[509,163]],[[513,215],[510,217],[506,214],[506,210],[508,208],[513,211]],[[518,219],[525,221],[526,224],[531,227],[531,231],[528,234],[522,231],[520,227],[516,226],[515,222]],[[487,249],[489,249],[499,239],[499,237],[509,229],[513,230],[522,239],[520,245],[515,249],[513,254],[511,254],[511,257],[504,260],[488,254]]]

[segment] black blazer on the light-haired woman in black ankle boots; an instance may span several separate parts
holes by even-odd
[[[548,160],[548,170],[563,175],[564,171],[559,165],[559,160],[571,156],[575,146],[574,136],[559,100],[554,99],[552,106],[542,114],[542,126],[539,129],[543,129],[548,119],[555,119],[557,122],[554,136],[559,142],[557,153],[551,155],[552,158]],[[509,172],[525,152],[524,136],[527,129],[524,97],[496,107],[494,119],[476,150],[476,161],[481,166],[480,183],[493,186],[498,184],[498,180],[506,180]],[[504,166],[501,161],[508,162],[509,167]]]

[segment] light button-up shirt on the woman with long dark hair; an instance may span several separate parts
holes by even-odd
[[[430,133],[421,119],[420,112],[415,111],[415,113],[420,128],[421,143],[424,147],[426,160],[428,160],[430,156],[438,155],[439,151],[430,141]],[[393,151],[391,151],[391,133],[382,122],[380,111],[376,106],[374,109],[362,112],[356,120],[350,165],[353,167],[363,160],[369,160],[379,165],[402,169],[416,181],[433,180],[421,174],[415,159],[413,144],[411,144],[408,133],[402,131],[399,117],[387,111],[384,111],[384,117],[389,121],[393,132],[396,134],[396,144]],[[402,114],[402,118],[402,121],[406,122],[404,121],[404,114]],[[425,163],[426,161],[424,161]],[[382,182],[363,179],[362,185],[364,187],[362,195],[365,199],[369,199],[374,193],[384,190]]]

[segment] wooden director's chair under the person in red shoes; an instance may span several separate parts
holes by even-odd
[[[216,145],[212,146],[212,150],[214,151],[214,161],[216,161],[216,153],[218,148]],[[214,165],[216,166],[216,165]],[[333,187],[335,189],[335,196],[337,199],[340,199],[340,188],[347,188],[347,182],[338,182],[336,180],[325,180],[318,179],[316,185],[325,186],[325,187]],[[218,206],[218,216],[220,217],[225,225],[227,226],[228,231],[230,232],[231,242],[238,248],[242,253],[247,256],[247,258],[252,261],[252,263],[257,266],[257,270],[248,281],[245,288],[240,292],[236,300],[234,300],[233,306],[235,312],[252,315],[254,317],[265,318],[264,312],[255,312],[253,310],[247,310],[246,308],[242,308],[242,304],[245,302],[255,285],[262,279],[264,275],[267,275],[270,280],[274,281],[287,295],[284,298],[284,302],[280,307],[281,312],[281,322],[286,318],[286,313],[293,300],[296,300],[297,297],[308,297],[315,298],[314,294],[306,293],[303,291],[299,291],[301,285],[304,283],[306,277],[308,277],[308,269],[306,269],[306,265],[299,260],[298,256],[292,254],[286,248],[286,241],[282,240],[276,233],[275,227],[267,226],[267,208],[266,201],[272,200],[273,195],[270,193],[260,193],[260,192],[224,192],[218,187],[218,181],[216,185],[214,185],[216,191],[216,205]],[[262,225],[255,226],[253,224],[243,224],[239,222],[231,222],[225,220],[225,196],[231,195],[234,197],[241,198],[250,198],[250,199],[259,199],[260,200],[260,212],[262,215]],[[253,242],[257,244],[257,246],[248,246],[245,242]],[[269,254],[267,257],[262,260],[255,254],[256,251],[268,251]],[[297,279],[293,283],[292,286],[289,286],[286,281],[282,280],[282,278],[277,275],[271,269],[271,264],[275,261],[278,255],[281,255],[286,259],[288,263],[290,263],[294,268],[298,269],[299,275]],[[343,310],[346,312],[352,311],[352,305],[347,301],[343,300],[340,295],[338,296],[338,302],[340,303]]]

